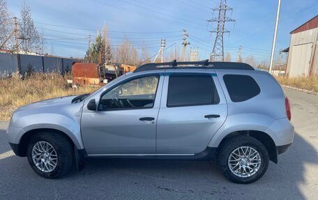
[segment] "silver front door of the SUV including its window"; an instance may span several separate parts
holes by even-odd
[[[100,96],[98,111],[82,112],[82,139],[88,155],[156,153],[160,75],[116,84]]]

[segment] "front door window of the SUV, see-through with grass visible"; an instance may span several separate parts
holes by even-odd
[[[132,79],[100,98],[98,110],[151,108],[155,102],[159,76]]]

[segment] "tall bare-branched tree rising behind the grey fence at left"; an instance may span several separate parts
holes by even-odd
[[[25,1],[23,1],[21,5],[21,18],[22,20],[18,23],[20,38],[23,40],[20,45],[20,49],[24,53],[43,52],[41,35],[34,26],[34,22],[31,17],[31,8],[27,5],[27,3],[25,3]]]

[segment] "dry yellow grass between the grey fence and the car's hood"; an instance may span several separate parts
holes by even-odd
[[[97,89],[92,86],[79,86],[77,90],[73,90],[67,84],[67,79],[71,79],[70,75],[63,77],[55,73],[33,74],[24,80],[15,73],[8,79],[0,79],[0,120],[9,120],[17,107],[31,102],[91,93]]]

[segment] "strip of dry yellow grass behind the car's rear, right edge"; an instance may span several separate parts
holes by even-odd
[[[318,77],[275,77],[282,85],[293,86],[298,89],[318,92]]]

